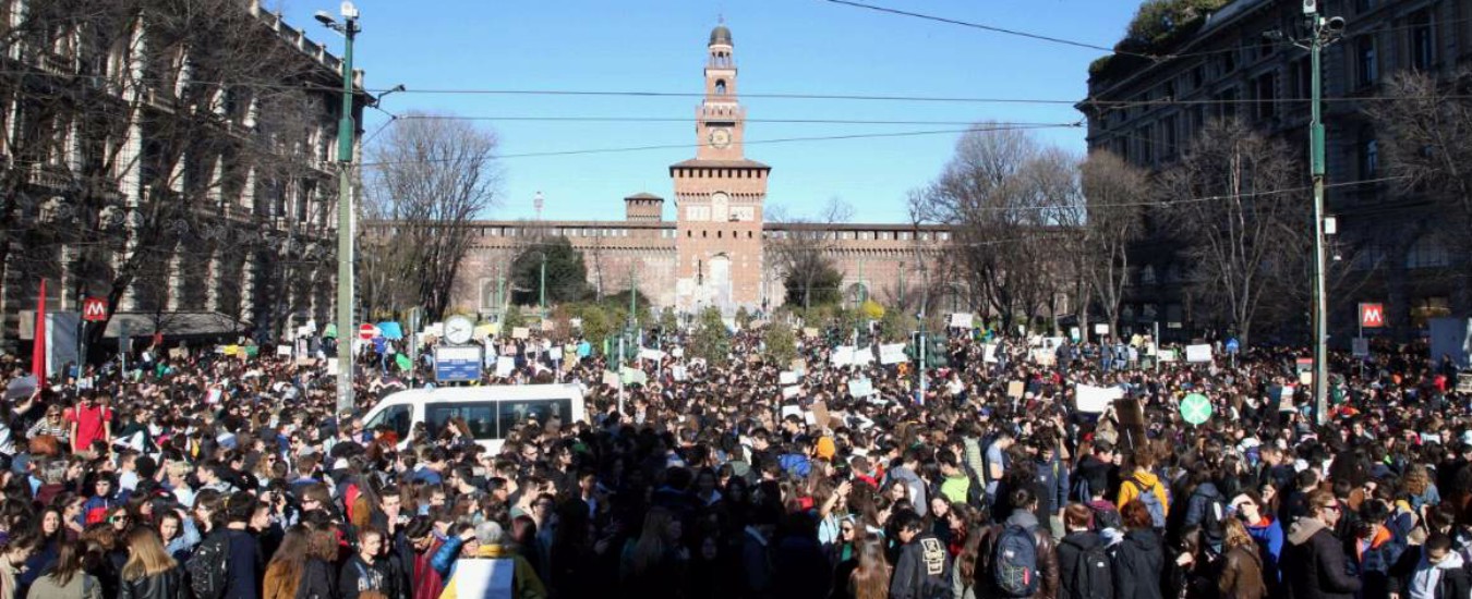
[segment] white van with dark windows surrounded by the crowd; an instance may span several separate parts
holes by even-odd
[[[492,453],[517,425],[536,419],[546,424],[558,417],[564,425],[587,419],[581,387],[576,384],[526,384],[490,387],[411,389],[393,393],[375,405],[364,422],[369,430],[387,425],[408,447],[409,431],[424,422],[430,437],[439,437],[450,418],[464,418],[475,443]]]

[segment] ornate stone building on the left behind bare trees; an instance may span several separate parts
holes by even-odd
[[[49,311],[109,300],[105,337],[124,319],[134,336],[328,319],[343,62],[259,0],[209,10],[0,0],[4,349],[29,339],[43,278]],[[231,29],[190,41],[209,26]]]

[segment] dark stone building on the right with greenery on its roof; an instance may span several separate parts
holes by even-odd
[[[1465,68],[1472,60],[1472,1],[1328,0],[1319,6],[1322,15],[1345,19],[1345,37],[1325,50],[1322,72],[1326,169],[1334,184],[1326,213],[1338,224],[1329,240],[1331,280],[1351,281],[1331,293],[1331,337],[1347,344],[1354,336],[1359,302],[1384,302],[1385,333],[1409,337],[1426,318],[1469,313],[1468,281],[1454,274],[1460,260],[1438,240],[1444,231],[1425,202],[1397,197],[1390,181],[1354,184],[1387,177],[1375,124],[1357,99],[1379,94],[1397,71],[1451,77]],[[1300,35],[1301,22],[1301,1],[1235,0],[1182,25],[1178,43],[1160,49],[1166,59],[1114,54],[1095,62],[1089,97],[1078,104],[1088,116],[1089,149],[1160,171],[1211,119],[1235,118],[1285,138],[1307,163],[1309,53],[1264,37],[1275,31]],[[1309,191],[1303,200],[1312,202]],[[1175,247],[1161,234],[1135,249],[1125,321],[1158,324],[1167,337],[1170,331],[1225,331],[1228,322],[1213,322],[1203,306],[1192,306],[1185,293],[1189,265]]]

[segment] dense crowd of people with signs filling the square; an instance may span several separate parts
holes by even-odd
[[[1423,347],[1337,355],[1317,424],[1292,349],[952,330],[921,391],[910,364],[761,340],[626,389],[518,350],[477,384],[580,386],[587,418],[498,453],[369,427],[428,374],[371,350],[347,412],[322,361],[272,352],[52,380],[0,358],[0,599],[1472,596],[1472,412]]]

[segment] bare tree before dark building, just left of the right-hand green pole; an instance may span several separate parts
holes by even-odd
[[[1303,169],[1282,140],[1213,122],[1160,177],[1161,215],[1186,240],[1197,305],[1219,306],[1248,343],[1259,309],[1309,249]]]

